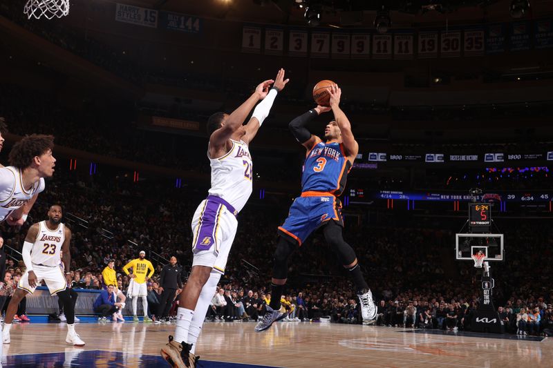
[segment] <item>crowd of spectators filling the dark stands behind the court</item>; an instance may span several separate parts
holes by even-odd
[[[122,266],[142,249],[149,251],[148,258],[154,253],[167,260],[175,255],[185,269],[183,274],[189,270],[191,252],[187,244],[191,239],[186,229],[205,193],[158,188],[156,183],[126,186],[56,175],[48,182],[46,192],[41,193],[26,226],[42,220],[48,204],[59,202],[64,206],[66,222],[74,229],[71,269],[75,288],[100,289],[101,271],[113,258],[119,287],[125,290],[129,278]],[[292,257],[288,292],[284,296],[269,295],[276,228],[285,211],[283,204],[254,202],[241,212],[227,271],[221,280],[221,295],[212,301],[207,318],[255,320],[264,313],[268,300],[276,297],[288,305],[289,320],[329,316],[332,322],[359,323],[355,291],[317,233]],[[261,212],[263,216],[259,216]],[[88,229],[69,221],[75,217],[86,220]],[[442,225],[447,228],[446,223]],[[346,224],[344,236],[355,248],[375,298],[384,301],[379,308],[379,324],[470,328],[467,315],[478,302],[480,280],[471,263],[451,262],[453,232],[439,228],[420,229],[405,222],[402,231],[397,231],[382,225]],[[553,301],[553,240],[547,237],[546,225],[506,223],[503,228],[509,247],[507,262],[494,263],[496,305],[510,313],[509,328],[513,320],[516,323],[519,311],[514,306],[532,311],[538,308],[543,322],[537,331],[543,333],[550,315],[547,303]],[[26,227],[21,231],[4,229],[6,245],[20,249],[25,233]],[[152,259],[156,273],[148,288],[151,310],[160,301],[158,276],[162,258]],[[536,269],[540,272],[536,273]],[[22,269],[10,263],[8,271],[18,277]],[[536,333],[532,323],[521,328]]]

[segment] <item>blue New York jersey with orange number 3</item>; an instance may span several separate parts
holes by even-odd
[[[330,192],[340,195],[346,186],[351,162],[337,142],[319,142],[309,151],[303,164],[301,191]]]

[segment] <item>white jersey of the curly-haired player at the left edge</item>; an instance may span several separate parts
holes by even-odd
[[[44,186],[44,179],[41,178],[26,191],[19,168],[0,168],[0,222],[6,220],[12,211],[29,202],[35,193],[44,191]]]

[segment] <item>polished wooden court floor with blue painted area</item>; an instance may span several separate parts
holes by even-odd
[[[279,322],[268,331],[256,333],[254,325],[252,322],[205,323],[196,349],[203,363],[200,367],[553,365],[550,338],[532,341],[517,336],[473,337],[315,322]],[[11,344],[3,345],[3,367],[161,368],[165,362],[160,361],[159,349],[167,342],[167,335],[174,333],[174,325],[142,322],[80,323],[76,329],[86,342],[82,349],[66,345],[64,324],[14,325]],[[218,362],[227,362],[227,365]]]

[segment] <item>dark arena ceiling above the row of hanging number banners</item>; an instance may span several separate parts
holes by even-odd
[[[299,2],[303,1],[303,8]],[[321,26],[369,27],[377,10],[386,4],[393,28],[444,26],[494,21],[510,21],[509,8],[521,0],[128,0],[136,6],[200,17],[274,24],[306,24],[306,7],[321,12]],[[525,17],[553,14],[552,0],[530,1]]]

